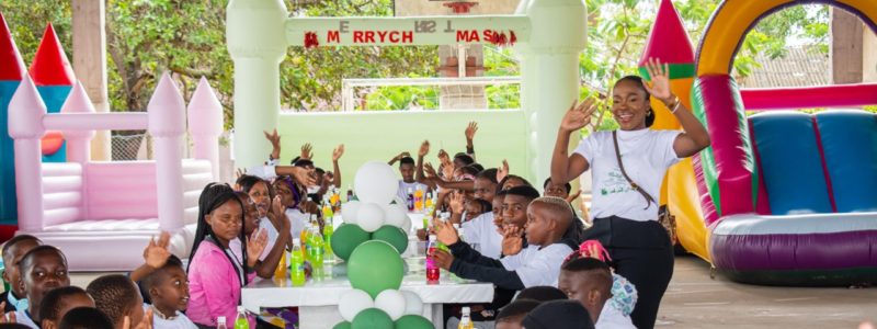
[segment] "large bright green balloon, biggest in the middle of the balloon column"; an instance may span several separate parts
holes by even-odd
[[[387,242],[363,242],[348,261],[348,279],[353,288],[368,293],[372,298],[385,290],[398,290],[405,272],[402,258]]]

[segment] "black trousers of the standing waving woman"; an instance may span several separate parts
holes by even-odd
[[[673,276],[670,236],[656,220],[637,222],[617,216],[596,218],[584,231],[586,240],[600,240],[615,268],[637,288],[638,299],[630,315],[639,329],[654,328],[661,298]]]

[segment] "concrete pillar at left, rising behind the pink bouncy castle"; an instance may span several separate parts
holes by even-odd
[[[72,0],[73,71],[96,112],[110,112],[106,91],[106,4],[103,0]],[[68,140],[69,144],[69,140]],[[95,132],[91,159],[112,159],[110,131]]]

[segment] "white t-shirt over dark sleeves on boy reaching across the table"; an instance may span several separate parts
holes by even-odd
[[[557,286],[560,275],[560,265],[572,252],[572,248],[565,243],[554,243],[547,247],[529,246],[515,256],[500,260],[505,270],[514,271],[525,287],[537,285]]]

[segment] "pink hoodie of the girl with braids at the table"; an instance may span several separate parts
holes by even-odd
[[[255,273],[249,275],[252,280]],[[189,265],[189,308],[185,315],[193,322],[216,326],[216,318],[225,316],[234,326],[240,300],[240,277],[226,253],[214,243],[202,241]],[[255,321],[249,317],[250,328]]]

